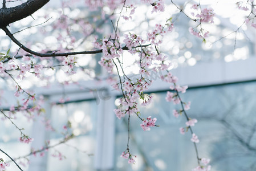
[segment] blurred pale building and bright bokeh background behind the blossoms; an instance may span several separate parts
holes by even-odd
[[[21,2],[24,1],[12,2],[10,6]],[[200,2],[202,6],[212,6],[216,13],[214,25],[203,26],[210,32],[206,43],[189,33],[189,27],[195,27],[196,23],[169,1],[165,12],[158,15],[151,14],[151,6],[137,6],[133,16],[135,19],[129,22],[120,20],[119,30],[145,35],[156,23],[165,23],[166,18],[172,17],[174,31],[162,39],[160,51],[168,55],[168,61],[172,62],[169,70],[178,77],[178,83],[189,86],[181,98],[191,101],[188,115],[198,120],[193,130],[200,139],[200,157],[210,158],[213,171],[256,170],[255,28],[243,25],[247,12],[238,11],[234,1]],[[186,14],[190,15],[193,3],[196,2],[177,1],[176,5],[184,7]],[[102,17],[102,11],[108,22],[94,22],[94,18]],[[90,12],[84,1],[76,1],[72,6],[67,1],[50,1],[33,18],[11,24],[10,30],[17,32],[30,27],[15,34],[15,37],[22,43],[30,44],[36,51],[90,49],[95,36],[103,38],[112,31],[109,18],[115,21],[108,7]],[[31,27],[47,19],[46,23]],[[77,25],[72,23],[74,20]],[[66,22],[67,29],[62,28],[61,21],[63,25]],[[0,36],[0,51],[5,52],[11,47],[10,51],[15,55],[18,47],[2,30]],[[60,41],[60,36],[66,42]],[[76,43],[71,43],[72,39]],[[58,47],[58,43],[62,47]],[[25,52],[21,50],[19,54]],[[141,116],[157,117],[160,127],[144,132],[140,127],[141,121],[136,116],[131,117],[129,146],[131,153],[137,156],[136,164],[129,165],[127,160],[120,157],[127,148],[128,118],[119,120],[113,113],[120,92],[109,86],[106,80],[108,74],[97,64],[100,57],[101,54],[76,56],[76,74],[70,77],[64,75],[65,68],[60,67],[54,71],[50,68],[44,70],[47,82],[32,75],[27,75],[26,80],[19,80],[21,86],[42,96],[46,117],[30,119],[22,112],[16,113],[17,125],[25,128],[25,132],[35,139],[31,145],[19,143],[17,137],[20,133],[9,120],[2,120],[1,148],[15,158],[26,156],[31,148],[42,148],[48,140],[51,145],[59,144],[42,156],[36,154],[36,157],[18,159],[25,170],[183,171],[195,168],[197,161],[191,135],[181,135],[178,131],[185,125],[185,117],[176,119],[173,116],[173,109],[180,107],[166,102],[170,85],[161,82],[160,76],[164,73],[154,71],[150,72],[149,78],[153,84],[147,92],[153,95],[153,101],[147,107],[139,108]],[[136,59],[136,56],[124,53],[125,73],[133,79],[139,74]],[[48,59],[37,62],[48,64]],[[58,60],[52,59],[51,62],[55,64]],[[116,73],[114,71],[114,75]],[[1,109],[9,109],[17,104],[14,89],[15,83],[0,77]],[[65,100],[62,102],[60,99]],[[51,120],[51,123],[43,124],[43,119]],[[65,144],[59,143],[67,133],[63,129],[67,121],[71,123],[67,132],[75,137]],[[0,154],[0,158],[9,160],[3,154]],[[18,168],[11,164],[10,170]]]

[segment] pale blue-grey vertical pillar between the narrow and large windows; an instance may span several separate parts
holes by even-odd
[[[105,93],[109,91],[103,90]],[[104,92],[99,92],[104,93]],[[106,97],[106,96],[105,96]],[[115,149],[115,96],[107,96],[107,99],[100,100],[97,106],[97,131],[96,131],[96,152],[95,169],[99,171],[114,169]]]

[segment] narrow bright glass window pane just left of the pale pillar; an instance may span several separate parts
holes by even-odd
[[[66,132],[63,126],[67,125],[67,120],[71,123],[68,132],[75,138],[49,150],[47,170],[94,170],[96,102],[54,105],[51,114],[51,120],[54,120],[52,127],[61,131],[51,133],[51,143],[58,144],[63,140]]]

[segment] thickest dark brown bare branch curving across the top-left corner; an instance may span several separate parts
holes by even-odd
[[[0,9],[0,26],[7,26],[10,23],[26,18],[35,11],[42,8],[50,0],[29,0],[19,6]]]

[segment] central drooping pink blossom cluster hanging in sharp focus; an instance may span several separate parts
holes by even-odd
[[[148,32],[148,42],[150,44],[154,44],[155,46],[159,45],[161,43],[160,39],[156,39],[158,35],[164,35],[168,31],[172,31],[172,24],[170,23],[171,20],[168,19],[166,21],[164,26],[156,25],[156,30],[154,30],[152,33]],[[167,29],[164,30],[163,28],[167,26]],[[113,26],[114,27],[114,26]],[[140,124],[141,128],[144,131],[150,131],[150,127],[157,127],[156,118],[151,118],[151,116],[147,117],[147,119],[143,119],[140,117],[140,111],[137,108],[138,102],[137,100],[143,100],[143,103],[141,105],[148,105],[151,103],[152,96],[149,96],[145,93],[143,93],[145,90],[148,89],[148,87],[151,85],[152,80],[149,80],[145,78],[145,75],[149,74],[148,70],[149,67],[153,64],[152,62],[154,60],[161,61],[161,66],[159,68],[166,69],[169,67],[168,63],[165,63],[166,56],[159,55],[154,52],[155,49],[151,49],[151,47],[148,47],[147,49],[141,45],[146,42],[140,35],[136,34],[129,34],[125,35],[125,39],[123,42],[126,44],[125,46],[128,47],[128,52],[132,55],[139,55],[140,60],[138,62],[140,66],[140,79],[131,80],[128,78],[128,76],[125,75],[125,72],[123,70],[123,66],[120,62],[120,57],[123,56],[123,50],[118,48],[119,40],[117,36],[117,27],[114,27],[115,31],[115,39],[103,39],[101,42],[95,42],[96,48],[102,48],[103,49],[103,57],[101,58],[99,64],[104,67],[108,72],[112,73],[113,68],[115,67],[117,70],[117,75],[119,76],[119,83],[113,84],[113,88],[115,88],[117,91],[119,90],[119,86],[121,88],[121,92],[123,94],[123,97],[119,99],[120,105],[117,107],[117,109],[114,110],[116,117],[121,119],[121,117],[124,117],[125,114],[128,115],[128,142],[127,142],[127,149],[121,154],[121,157],[124,157],[128,159],[129,164],[135,163],[135,160],[133,158],[133,155],[131,154],[129,150],[129,125],[130,125],[130,117],[133,113],[136,114],[136,116],[139,117],[141,121],[143,121],[142,124]],[[137,48],[132,48],[137,47]],[[123,72],[124,78],[121,79],[120,76],[120,70],[117,67],[117,64],[115,62],[119,62],[121,71]],[[120,85],[119,85],[120,84]]]

